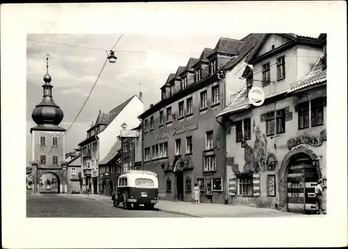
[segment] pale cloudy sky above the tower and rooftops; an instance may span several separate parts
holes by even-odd
[[[86,100],[104,60],[121,34],[52,35],[29,34],[26,41],[26,157],[31,161],[30,128],[35,126],[31,113],[42,99],[42,77],[49,54],[54,102],[64,118],[60,126],[67,129]],[[145,109],[160,100],[159,88],[177,67],[190,57],[198,58],[205,47],[214,48],[220,37],[242,39],[248,33],[219,35],[144,35],[122,34],[113,50],[116,63],[106,63],[83,111],[65,134],[68,153],[86,138],[86,130],[95,122],[99,110],[109,112],[132,95],[143,93]]]

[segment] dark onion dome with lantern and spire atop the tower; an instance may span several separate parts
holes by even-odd
[[[41,102],[35,106],[35,109],[33,109],[31,118],[33,118],[34,122],[38,125],[58,125],[63,120],[64,114],[63,111],[59,108],[59,106],[56,103],[54,103],[52,99],[53,86],[50,83],[52,81],[52,77],[48,73],[48,58],[46,58],[46,61],[47,72],[43,77],[45,84],[42,85],[43,97]]]

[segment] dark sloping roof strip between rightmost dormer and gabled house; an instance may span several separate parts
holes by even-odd
[[[258,43],[260,38],[262,37],[262,33],[251,33],[249,35],[246,35],[242,39],[244,45],[241,47],[239,54],[232,58],[225,67],[223,67],[224,70],[231,70],[235,65],[237,65],[240,61],[243,60],[246,56],[248,56],[248,53],[255,47],[255,45]]]

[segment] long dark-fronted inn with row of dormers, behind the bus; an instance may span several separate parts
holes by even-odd
[[[202,202],[224,203],[224,134],[216,115],[226,107],[232,86],[225,71],[240,72],[260,38],[220,38],[214,49],[190,58],[161,87],[161,101],[142,113],[143,169],[159,175],[159,198],[192,200],[199,184]],[[239,69],[237,69],[239,68]]]

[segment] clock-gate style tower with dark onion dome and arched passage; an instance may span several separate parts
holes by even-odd
[[[51,85],[52,77],[48,72],[48,56],[46,67],[46,74],[43,77],[45,83],[42,85],[43,97],[31,114],[31,118],[36,123],[36,126],[30,129],[33,192],[39,192],[40,178],[49,172],[54,174],[59,182],[58,193],[64,193],[67,188],[65,136],[63,136],[65,129],[59,127],[64,114],[52,97],[53,86]]]

